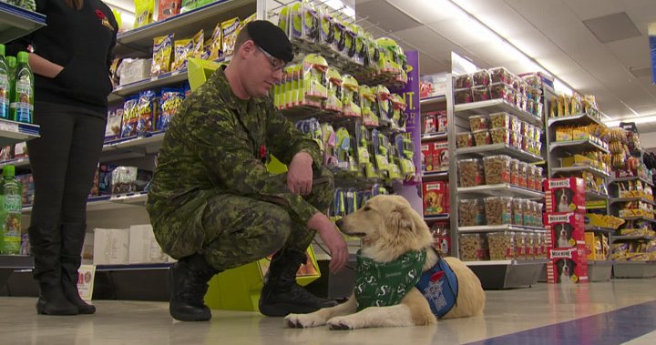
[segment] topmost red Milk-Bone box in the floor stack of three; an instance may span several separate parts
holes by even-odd
[[[544,181],[547,213],[585,213],[585,180],[583,178],[548,178]]]

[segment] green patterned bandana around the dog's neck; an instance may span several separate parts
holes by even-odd
[[[421,278],[425,257],[425,250],[410,251],[395,261],[379,263],[358,251],[354,288],[357,310],[401,302]]]

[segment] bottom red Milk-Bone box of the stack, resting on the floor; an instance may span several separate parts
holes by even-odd
[[[585,245],[569,249],[548,249],[547,281],[559,284],[588,283]]]

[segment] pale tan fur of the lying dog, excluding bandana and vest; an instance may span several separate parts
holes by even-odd
[[[405,198],[377,196],[364,208],[338,222],[344,234],[364,239],[362,255],[377,262],[390,262],[412,250],[426,250],[424,271],[439,259],[431,249],[433,237],[421,218]],[[458,279],[456,305],[444,318],[464,318],[483,314],[486,295],[480,280],[456,258],[445,258]],[[328,324],[331,330],[353,330],[368,327],[423,326],[436,323],[436,316],[424,295],[411,289],[401,303],[388,307],[369,307],[355,313],[354,294],[331,308],[310,314],[290,314],[285,323],[292,328],[318,327]]]

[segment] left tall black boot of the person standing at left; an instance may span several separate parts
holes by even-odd
[[[62,289],[59,228],[30,227],[28,232],[35,257],[33,275],[39,282],[36,312],[46,315],[77,315],[77,307],[68,301]]]

